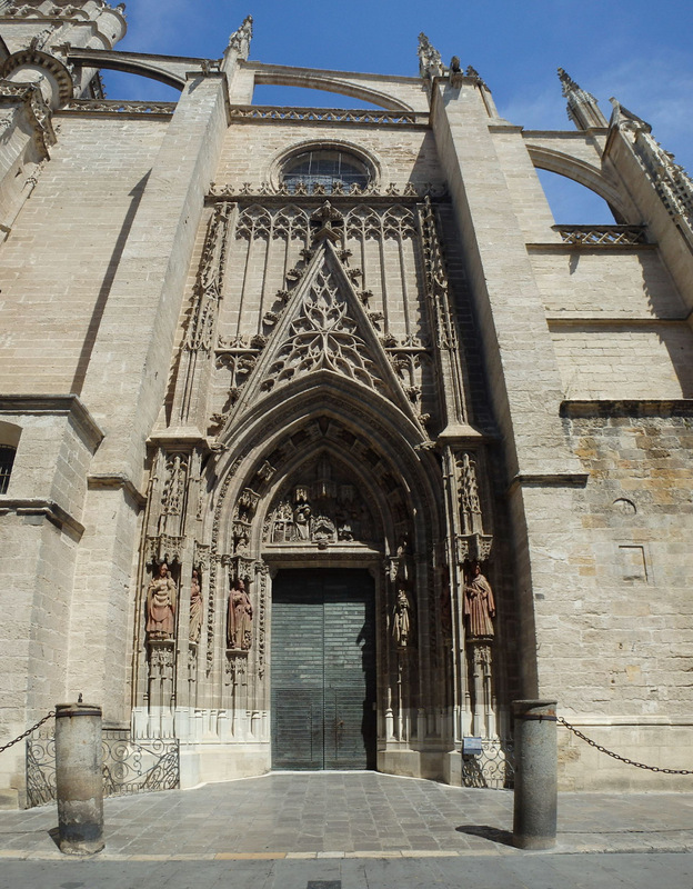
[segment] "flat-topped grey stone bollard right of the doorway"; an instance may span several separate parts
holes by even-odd
[[[513,842],[520,849],[551,849],[558,808],[556,701],[513,701]]]

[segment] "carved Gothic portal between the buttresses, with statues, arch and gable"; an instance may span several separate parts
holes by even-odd
[[[318,672],[325,675],[333,657],[325,628],[337,628],[338,641],[354,640],[344,662],[365,657],[369,647],[374,655],[372,678],[363,671],[361,701],[349,705],[361,708],[364,731],[368,708],[375,713],[374,751],[362,735],[366,766],[459,782],[462,739],[499,740],[494,629],[489,616],[472,622],[465,598],[468,586],[483,592],[483,578],[473,587],[474,563],[488,562],[491,550],[488,458],[465,407],[464,356],[435,213],[428,199],[376,209],[350,201],[348,212],[323,201],[309,213],[293,203],[268,210],[221,201],[210,218],[171,409],[181,424],[195,412],[209,418],[199,403],[214,368],[227,400],[211,414],[211,448],[209,438],[178,442],[175,453],[165,441],[158,446],[149,502],[160,499],[162,508],[145,517],[138,615],[165,559],[181,590],[178,627],[159,640],[143,631],[143,617],[135,621],[135,639],[144,640],[135,657],[135,731],[181,738],[202,763],[201,780],[282,765],[277,696],[294,689],[302,655],[299,645],[289,666],[273,668],[273,635],[274,642],[283,633],[293,645],[294,628],[302,626],[292,611],[301,585],[321,590],[313,597],[322,609]],[[272,306],[261,318],[262,332],[219,338],[210,368],[210,331],[224,287],[210,263],[223,263],[231,230],[229,250],[247,269],[257,269],[262,256],[260,268],[267,267],[284,241],[292,250],[294,241],[310,247],[287,271],[277,302],[259,300]],[[344,239],[354,249],[345,249]],[[389,332],[391,321],[370,304],[370,291],[356,291],[361,271],[349,263],[354,250],[369,274],[375,261],[394,258],[398,286],[391,290],[400,302],[418,301],[410,313],[402,310],[410,326],[404,337]],[[228,327],[238,330],[241,303],[258,299],[251,279],[249,272],[238,301],[229,303]],[[202,601],[200,618],[195,599],[194,620],[191,577]],[[359,578],[368,592],[350,592]],[[344,588],[339,595],[329,592],[334,583]],[[359,597],[355,622],[340,625],[327,613],[330,603]],[[277,606],[288,608],[283,625]],[[317,645],[309,642],[311,653]],[[315,705],[323,717],[329,695],[352,680],[341,672],[323,682]],[[303,695],[284,717],[298,726],[307,707]],[[330,720],[332,728],[323,718],[317,729],[323,737],[317,758],[299,749],[302,767],[342,762],[324,740],[340,713]],[[308,721],[313,725],[312,715]],[[299,748],[313,743],[308,736],[298,739]]]

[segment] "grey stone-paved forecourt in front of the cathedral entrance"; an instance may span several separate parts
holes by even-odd
[[[275,772],[104,801],[101,860],[446,858],[511,845],[512,791]],[[56,807],[0,812],[0,858],[54,860]],[[561,793],[558,853],[693,851],[693,795]],[[533,855],[533,853],[532,853]]]

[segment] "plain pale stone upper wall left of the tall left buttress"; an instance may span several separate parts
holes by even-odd
[[[0,250],[3,392],[79,391],[167,129],[165,121],[60,114],[54,123],[59,142]]]

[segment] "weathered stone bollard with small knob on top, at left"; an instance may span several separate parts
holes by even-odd
[[[92,855],[103,849],[101,762],[101,708],[59,703],[56,787],[60,851],[66,855]]]

